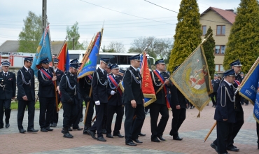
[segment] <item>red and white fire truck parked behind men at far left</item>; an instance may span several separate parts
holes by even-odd
[[[35,53],[25,53],[25,52],[0,52],[0,62],[7,60],[10,62],[10,66],[23,66],[23,61],[25,57],[34,57]],[[1,63],[0,63],[1,66]]]

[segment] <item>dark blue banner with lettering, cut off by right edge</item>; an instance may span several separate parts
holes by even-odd
[[[242,81],[239,94],[254,105],[253,117],[259,123],[259,57]]]

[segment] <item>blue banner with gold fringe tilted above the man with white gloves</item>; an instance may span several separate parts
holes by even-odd
[[[78,73],[78,78],[83,78],[84,76],[90,75],[96,70],[101,38],[101,32],[98,32],[94,38],[94,46],[92,48],[92,51],[90,53],[87,53],[84,61],[82,62],[83,67]]]

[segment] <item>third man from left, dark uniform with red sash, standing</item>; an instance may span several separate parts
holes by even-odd
[[[41,132],[52,131],[50,128],[50,118],[52,118],[55,106],[55,85],[57,76],[53,76],[52,69],[49,68],[48,57],[41,59],[41,69],[38,70],[38,97],[40,102],[39,125]]]

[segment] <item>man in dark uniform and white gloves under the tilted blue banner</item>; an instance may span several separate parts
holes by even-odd
[[[103,118],[107,110],[108,96],[107,96],[107,72],[106,66],[109,64],[109,59],[101,58],[99,68],[94,71],[92,76],[92,97],[95,102],[96,122],[87,133],[91,135],[93,139],[98,141],[106,141],[104,139],[102,130],[104,128]],[[94,137],[94,132],[97,131],[97,138]]]

